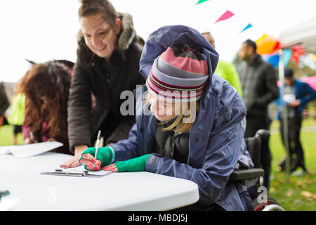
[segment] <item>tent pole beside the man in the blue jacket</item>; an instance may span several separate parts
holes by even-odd
[[[282,103],[282,110],[281,110],[281,120],[283,121],[283,140],[284,140],[284,147],[287,151],[287,158],[286,158],[286,164],[285,164],[285,170],[287,172],[287,181],[289,181],[290,177],[290,152],[289,152],[289,126],[288,126],[288,120],[287,120],[287,105],[284,103],[284,63],[283,63],[283,50],[279,49],[279,81],[281,82],[281,103]]]

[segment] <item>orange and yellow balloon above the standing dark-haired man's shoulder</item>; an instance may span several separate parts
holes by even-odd
[[[272,54],[279,50],[279,41],[273,37],[263,34],[261,38],[256,40],[258,54]]]

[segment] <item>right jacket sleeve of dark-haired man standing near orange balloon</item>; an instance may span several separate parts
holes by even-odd
[[[262,96],[258,96],[255,99],[256,105],[268,105],[268,103],[274,101],[279,96],[279,91],[277,89],[277,76],[275,74],[275,68],[272,65],[268,65],[264,73],[265,86],[267,86],[267,91]]]

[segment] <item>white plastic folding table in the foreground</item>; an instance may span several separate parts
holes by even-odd
[[[0,155],[0,191],[19,198],[11,210],[172,210],[199,200],[197,184],[149,172],[91,178],[41,175],[71,155]]]

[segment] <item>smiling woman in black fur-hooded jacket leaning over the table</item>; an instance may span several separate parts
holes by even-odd
[[[77,62],[68,102],[68,136],[74,158],[60,167],[77,167],[81,153],[101,130],[104,145],[127,139],[135,116],[120,112],[122,91],[145,84],[139,73],[142,47],[128,13],[107,0],[83,0],[79,8]]]

